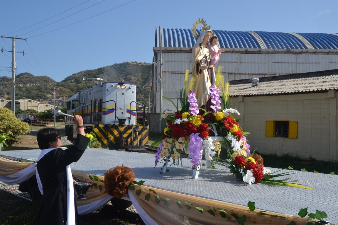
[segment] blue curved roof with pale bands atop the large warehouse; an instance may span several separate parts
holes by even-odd
[[[267,31],[213,30],[220,48],[249,49],[338,49],[338,33],[284,33]],[[200,30],[196,30],[200,34]],[[156,37],[158,37],[156,29]],[[162,29],[162,47],[192,48],[191,29]],[[155,41],[159,47],[159,41]]]

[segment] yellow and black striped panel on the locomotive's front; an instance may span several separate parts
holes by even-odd
[[[134,134],[132,128],[134,128]],[[94,124],[93,132],[97,138],[101,139],[103,144],[110,148],[119,148],[119,141],[122,138],[128,141],[128,146],[140,147],[147,144],[149,139],[149,126],[144,125]]]

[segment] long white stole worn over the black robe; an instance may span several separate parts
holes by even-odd
[[[38,158],[38,163],[39,160],[45,156],[48,152],[53,150],[55,148],[47,148],[41,150],[41,153]],[[73,225],[75,224],[75,202],[74,202],[74,184],[73,184],[73,175],[72,175],[72,170],[70,169],[70,165],[66,166],[67,169],[67,225]],[[43,189],[42,189],[42,184],[40,180],[40,176],[38,173],[38,168],[35,167],[35,171],[37,173],[37,181],[38,181],[38,186],[41,194],[43,194]]]

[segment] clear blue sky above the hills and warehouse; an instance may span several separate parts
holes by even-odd
[[[59,82],[74,73],[120,62],[152,61],[155,29],[192,28],[338,33],[337,0],[3,0],[0,36],[16,40],[16,74]],[[50,18],[50,19],[49,19]],[[12,50],[10,38],[0,49]],[[11,77],[11,52],[0,52],[0,77]]]

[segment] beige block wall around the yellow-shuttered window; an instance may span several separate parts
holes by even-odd
[[[291,153],[319,160],[338,160],[337,92],[233,98],[250,149],[259,153]],[[298,138],[265,137],[265,121],[298,121]]]

